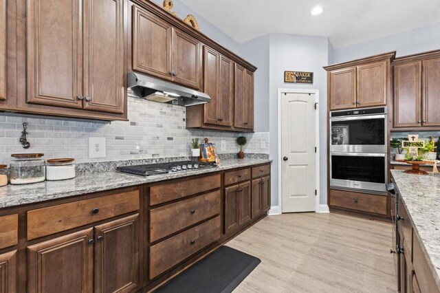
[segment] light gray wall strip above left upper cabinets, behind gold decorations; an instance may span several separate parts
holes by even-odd
[[[163,7],[163,0],[152,1],[158,6]],[[180,19],[184,19],[188,14],[194,15],[194,17],[197,19],[197,23],[199,23],[200,32],[206,34],[206,36],[210,37],[210,39],[213,39],[217,43],[221,44],[223,47],[226,47],[228,50],[231,50],[234,53],[239,52],[240,44],[234,41],[234,39],[228,36],[228,34],[222,32],[219,28],[214,26],[208,20],[201,17],[199,14],[197,14],[194,10],[186,6],[181,1],[173,0],[173,3],[173,12],[176,12],[177,17],[179,17]]]

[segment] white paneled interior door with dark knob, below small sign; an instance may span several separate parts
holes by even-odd
[[[283,213],[316,210],[315,94],[281,94]]]

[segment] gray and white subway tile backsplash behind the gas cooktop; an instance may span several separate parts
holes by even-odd
[[[186,157],[192,138],[209,138],[219,153],[237,153],[236,138],[243,135],[247,153],[269,153],[269,133],[229,133],[185,128],[186,108],[129,96],[129,121],[63,120],[9,113],[0,114],[0,163],[11,153],[44,153],[49,158],[75,158],[76,162]],[[19,142],[22,123],[28,122],[30,149]],[[106,138],[106,157],[89,158],[89,137]],[[221,140],[226,149],[221,150]]]

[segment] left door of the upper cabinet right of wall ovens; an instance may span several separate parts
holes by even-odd
[[[421,126],[421,61],[394,65],[394,127]]]

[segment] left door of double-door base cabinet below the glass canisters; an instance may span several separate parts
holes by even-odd
[[[92,292],[93,228],[28,247],[28,292]]]

